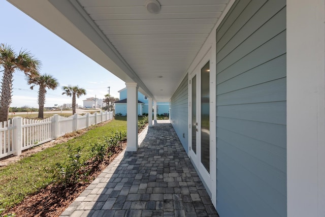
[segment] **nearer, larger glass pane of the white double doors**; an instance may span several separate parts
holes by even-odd
[[[201,69],[201,162],[210,173],[210,61]]]

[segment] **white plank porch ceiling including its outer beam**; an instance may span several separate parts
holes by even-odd
[[[149,13],[145,1],[9,0],[122,80],[166,102],[230,0],[158,0],[158,14]]]

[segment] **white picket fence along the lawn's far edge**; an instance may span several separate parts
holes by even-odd
[[[74,114],[70,117],[54,114],[44,120],[14,117],[10,121],[0,122],[0,159],[11,154],[19,156],[22,150],[111,119],[113,111]]]

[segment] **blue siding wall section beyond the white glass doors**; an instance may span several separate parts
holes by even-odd
[[[188,154],[188,85],[187,75],[171,98],[171,123]]]

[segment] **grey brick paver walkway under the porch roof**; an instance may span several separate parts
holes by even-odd
[[[169,121],[139,135],[61,216],[218,216]]]

